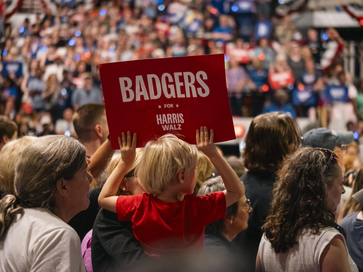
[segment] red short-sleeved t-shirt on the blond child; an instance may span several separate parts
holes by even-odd
[[[149,255],[163,255],[183,248],[202,248],[204,227],[226,216],[223,191],[180,202],[164,202],[152,194],[119,196],[119,221],[131,221],[136,239]]]

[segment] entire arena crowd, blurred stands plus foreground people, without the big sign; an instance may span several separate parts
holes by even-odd
[[[337,30],[303,33],[274,5],[65,1],[8,25],[0,271],[363,271],[363,84]],[[213,127],[196,146],[124,131],[115,154],[99,64],[216,53],[232,114],[254,117],[241,156]]]

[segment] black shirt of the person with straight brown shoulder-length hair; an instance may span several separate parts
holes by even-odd
[[[258,246],[263,234],[261,227],[269,212],[276,175],[268,171],[250,170],[240,179],[245,185],[246,198],[251,201],[253,210],[249,213],[248,229],[239,233],[233,243],[246,255],[246,270],[255,271]]]

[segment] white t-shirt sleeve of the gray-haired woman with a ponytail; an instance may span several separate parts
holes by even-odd
[[[40,237],[31,248],[29,262],[30,272],[86,272],[79,237],[68,228],[52,230]]]

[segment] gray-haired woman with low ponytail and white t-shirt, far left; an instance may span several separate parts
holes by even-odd
[[[50,135],[30,143],[16,165],[15,194],[0,200],[0,271],[86,271],[67,222],[89,206],[91,181],[77,140]]]

